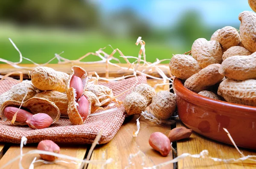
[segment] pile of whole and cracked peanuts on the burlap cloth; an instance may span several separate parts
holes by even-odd
[[[113,93],[103,85],[88,85],[87,72],[79,66],[71,70],[68,75],[36,67],[31,81],[25,80],[0,96],[0,117],[32,129],[49,127],[60,116],[68,117],[72,124],[83,124],[90,113],[110,102],[105,100],[113,97]]]

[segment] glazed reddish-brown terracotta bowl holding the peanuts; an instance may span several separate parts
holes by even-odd
[[[256,107],[227,103],[201,96],[175,78],[180,120],[193,131],[227,144],[232,144],[226,128],[237,146],[256,149]]]

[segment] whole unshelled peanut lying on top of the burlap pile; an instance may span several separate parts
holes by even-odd
[[[65,92],[68,74],[52,68],[39,66],[33,69],[31,81],[40,90]]]

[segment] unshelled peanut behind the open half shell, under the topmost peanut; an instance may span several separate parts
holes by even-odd
[[[55,90],[50,90],[50,91],[44,91],[41,93],[36,94],[34,97],[40,97],[47,99],[49,101],[52,101],[56,104],[58,109],[60,110],[61,116],[67,117],[67,94],[66,93],[61,93]]]

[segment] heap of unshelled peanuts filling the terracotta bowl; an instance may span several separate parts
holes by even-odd
[[[250,6],[253,4],[256,3]],[[256,13],[243,11],[238,18],[241,21],[239,31],[225,26],[215,31],[209,41],[196,39],[191,48],[192,56],[174,55],[169,68],[195,93],[256,106]]]

